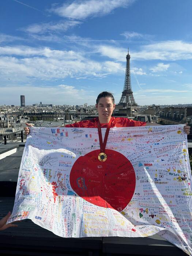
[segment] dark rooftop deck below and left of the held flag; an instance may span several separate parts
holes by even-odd
[[[10,144],[10,148],[13,146]],[[12,211],[23,144],[17,152],[0,160],[0,218]],[[7,146],[8,147],[8,146]],[[1,154],[1,147],[0,147]],[[119,256],[156,255],[186,256],[157,234],[149,237],[86,237],[63,238],[34,224],[30,219],[18,222],[18,227],[0,231],[1,255],[34,256]]]

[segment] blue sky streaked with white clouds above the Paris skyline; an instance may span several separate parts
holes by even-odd
[[[0,105],[192,103],[191,0],[1,0]]]

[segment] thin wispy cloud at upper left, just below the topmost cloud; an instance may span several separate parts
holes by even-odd
[[[20,30],[32,33],[32,34],[44,34],[47,32],[55,32],[55,31],[67,31],[72,27],[81,24],[81,22],[76,20],[66,20],[60,22],[49,22],[49,23],[40,23],[40,24],[32,24],[28,27],[22,28]]]

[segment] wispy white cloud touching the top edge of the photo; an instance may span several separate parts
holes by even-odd
[[[86,19],[87,17],[109,14],[119,7],[128,7],[135,0],[84,0],[53,7],[50,11],[61,17],[72,19]]]

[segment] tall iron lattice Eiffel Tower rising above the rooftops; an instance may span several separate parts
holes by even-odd
[[[126,71],[125,71],[125,82],[124,82],[124,88],[121,95],[121,99],[119,104],[125,104],[126,106],[136,106],[135,99],[133,97],[133,92],[131,89],[131,73],[130,73],[130,54],[129,54],[129,48],[128,48],[128,54],[126,56],[127,63],[126,63]]]

